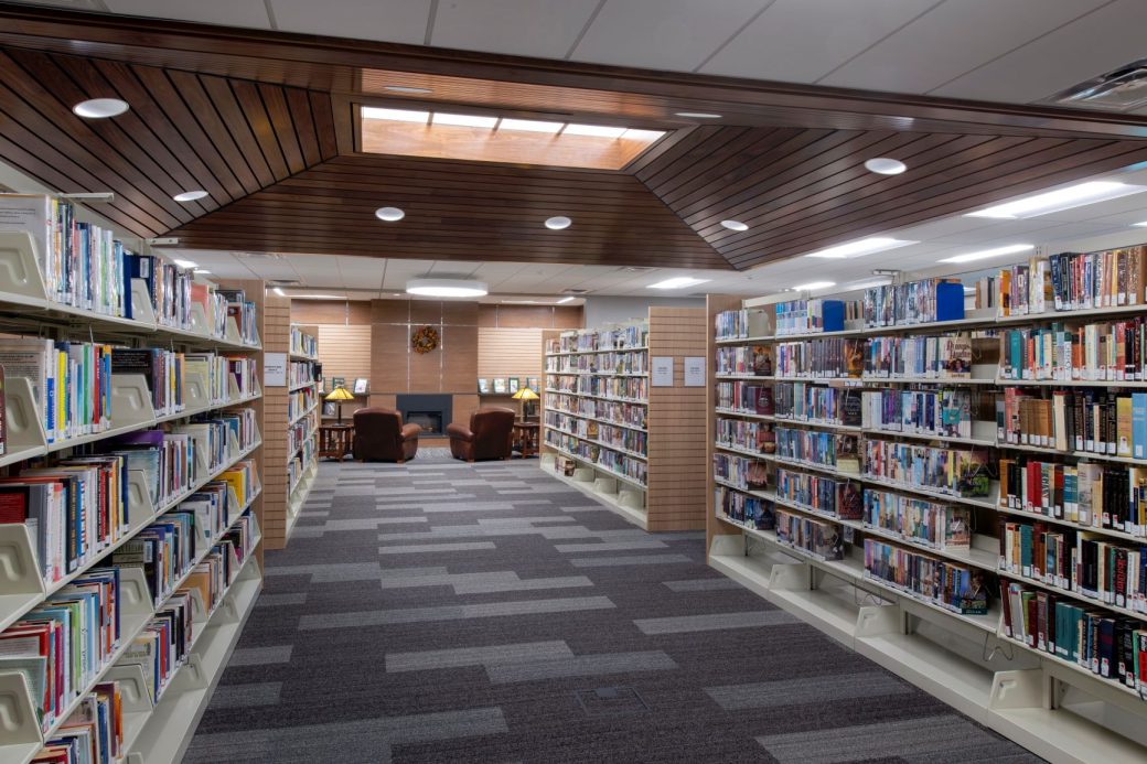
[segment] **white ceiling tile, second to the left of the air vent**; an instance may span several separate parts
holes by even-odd
[[[1106,0],[945,2],[820,81],[895,93],[927,93]]]

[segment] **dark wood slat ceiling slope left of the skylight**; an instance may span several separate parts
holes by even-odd
[[[81,119],[118,98],[131,110]],[[243,79],[0,49],[0,158],[62,193],[116,194],[97,210],[157,236],[336,154],[330,95]],[[210,196],[179,203],[202,189]]]

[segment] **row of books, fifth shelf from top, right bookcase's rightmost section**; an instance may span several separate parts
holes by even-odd
[[[1105,605],[1147,613],[1147,546],[1087,531],[1000,520],[999,569],[1076,592]]]

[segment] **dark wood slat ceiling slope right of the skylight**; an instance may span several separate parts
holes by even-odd
[[[877,156],[911,171],[865,170]],[[748,268],[1144,161],[1144,141],[705,126],[637,177]]]

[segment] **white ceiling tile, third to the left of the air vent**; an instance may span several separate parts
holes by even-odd
[[[701,71],[813,83],[935,2],[777,0]]]

